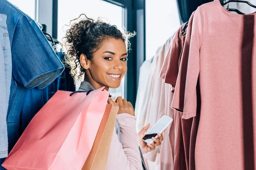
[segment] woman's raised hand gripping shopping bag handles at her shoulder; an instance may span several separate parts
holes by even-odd
[[[121,96],[117,97],[116,101],[114,102],[111,97],[108,98],[108,104],[113,104],[116,107],[119,107],[118,113],[128,113],[132,116],[135,116],[134,108],[131,102],[127,102],[126,99],[122,99]]]

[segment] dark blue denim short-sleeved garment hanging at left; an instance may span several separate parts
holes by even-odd
[[[10,152],[26,125],[45,104],[42,88],[53,82],[64,66],[34,20],[6,0],[0,0],[0,4],[0,13],[7,15],[12,51],[12,82],[7,112]]]

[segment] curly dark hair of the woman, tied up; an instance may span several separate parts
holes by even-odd
[[[84,16],[83,18],[81,16]],[[74,23],[73,23],[74,22]],[[80,55],[86,55],[87,59],[93,59],[93,53],[96,52],[102,43],[108,38],[116,38],[125,42],[126,50],[130,50],[129,38],[136,35],[124,30],[120,31],[116,26],[103,22],[101,18],[93,20],[85,14],[70,21],[70,28],[67,30],[63,42],[67,49],[65,55],[65,64],[71,68],[71,75],[76,79],[81,79],[85,73],[80,65]],[[93,62],[93,61],[92,61]],[[87,75],[85,74],[85,79]]]

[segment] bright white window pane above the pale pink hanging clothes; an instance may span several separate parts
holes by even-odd
[[[176,0],[146,0],[146,59],[171,37],[180,26]]]

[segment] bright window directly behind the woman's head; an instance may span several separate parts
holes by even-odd
[[[117,28],[122,28],[123,8],[103,0],[58,0],[58,40],[62,42],[65,32],[70,25],[70,20],[78,18],[80,14],[86,14],[87,17],[96,20],[98,17],[104,18],[104,21]],[[68,25],[68,26],[64,26]],[[77,88],[80,83],[77,82]],[[112,98],[117,96],[124,97],[124,78],[117,89],[110,89]]]

